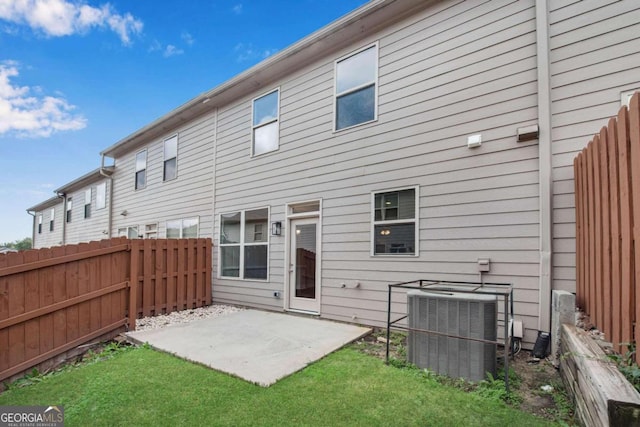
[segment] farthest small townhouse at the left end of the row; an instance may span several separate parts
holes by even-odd
[[[64,244],[62,238],[64,201],[62,197],[52,197],[30,207],[27,212],[33,216],[31,239],[34,249]]]

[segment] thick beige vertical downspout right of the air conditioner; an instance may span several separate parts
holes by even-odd
[[[553,177],[551,168],[551,71],[549,65],[549,1],[536,0],[536,45],[538,58],[538,161],[540,199],[540,282],[538,330],[551,327],[551,273],[553,239]]]

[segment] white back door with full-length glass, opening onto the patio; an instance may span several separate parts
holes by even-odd
[[[289,227],[289,308],[320,312],[318,218],[292,219]]]

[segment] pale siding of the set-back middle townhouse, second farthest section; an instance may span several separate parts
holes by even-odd
[[[96,187],[106,183],[106,203],[103,209],[96,209]],[[91,216],[84,217],[84,192],[91,189]],[[80,190],[68,194],[73,200],[71,222],[65,224],[65,244],[90,242],[109,238],[109,179],[105,178]],[[65,214],[66,215],[66,214]],[[65,217],[66,218],[66,217]]]

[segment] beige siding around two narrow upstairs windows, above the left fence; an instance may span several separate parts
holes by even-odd
[[[123,227],[157,224],[158,238],[166,237],[166,222],[199,218],[198,237],[212,236],[214,113],[167,132],[115,159],[112,236]],[[164,140],[178,134],[177,177],[163,181]],[[146,187],[136,190],[135,157],[147,150]],[[126,211],[126,215],[122,213]]]

